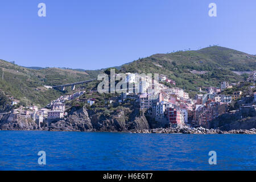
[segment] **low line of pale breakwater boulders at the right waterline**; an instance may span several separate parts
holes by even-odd
[[[230,130],[221,131],[219,129],[205,129],[203,127],[177,127],[177,128],[160,128],[149,130],[133,130],[131,133],[164,133],[164,134],[256,134],[256,129],[250,130]]]

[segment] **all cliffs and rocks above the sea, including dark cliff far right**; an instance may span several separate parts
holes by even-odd
[[[148,121],[143,111],[137,109],[127,113],[125,110],[118,110],[114,114],[108,115],[104,112],[94,112],[81,109],[72,109],[68,117],[51,123],[44,122],[39,127],[34,120],[27,115],[3,114],[0,115],[0,130],[45,130],[45,131],[131,131],[135,133],[185,133],[185,134],[214,134],[214,133],[237,133],[237,134],[255,134],[256,118],[248,117],[239,121],[234,118],[240,117],[241,113],[234,115],[224,115],[219,120],[211,122],[211,128],[217,130],[208,130],[200,128],[190,129],[155,129],[152,127],[152,121]],[[225,122],[223,119],[228,119]],[[243,129],[243,130],[241,130]],[[230,132],[225,132],[230,131]]]

